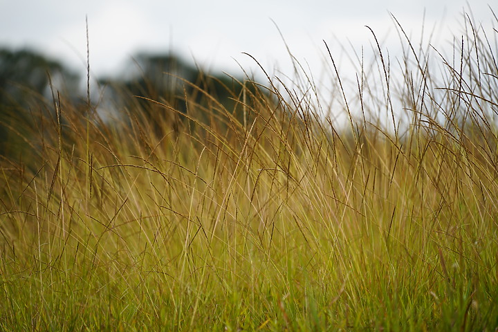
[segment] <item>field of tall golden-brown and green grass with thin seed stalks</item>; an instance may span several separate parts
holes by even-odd
[[[372,35],[356,82],[331,55],[330,102],[297,62],[232,109],[40,100],[0,162],[0,329],[495,331],[498,33],[463,23],[450,56]]]

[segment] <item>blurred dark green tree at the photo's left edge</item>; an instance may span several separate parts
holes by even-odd
[[[50,81],[77,96],[79,77],[60,62],[34,50],[0,49],[0,155],[17,153],[28,136],[28,109],[46,107],[52,98]],[[67,95],[67,94],[66,94]]]

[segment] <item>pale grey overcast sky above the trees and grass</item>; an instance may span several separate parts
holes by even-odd
[[[478,23],[492,21],[488,3],[471,1]],[[385,45],[398,42],[393,31],[387,35],[394,28],[389,12],[417,35],[425,10],[426,29],[436,24],[434,43],[443,45],[459,33],[468,8],[462,0],[0,0],[0,46],[42,50],[84,72],[87,15],[93,75],[118,73],[139,50],[173,50],[205,68],[232,73],[237,62],[255,70],[241,54],[247,52],[268,71],[286,71],[290,62],[276,26],[293,55],[319,68],[323,39],[333,51],[340,48],[338,40],[359,47],[372,40],[365,25]]]

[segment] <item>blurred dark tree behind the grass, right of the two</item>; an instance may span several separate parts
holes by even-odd
[[[214,118],[217,119],[216,125],[226,125],[229,121],[227,113],[243,123],[242,107],[237,107],[237,100],[241,100],[244,89],[241,84],[243,79],[236,80],[228,75],[206,75],[200,68],[171,54],[140,53],[133,57],[133,63],[127,66],[124,73],[118,78],[99,80],[100,84],[108,88],[107,97],[124,102],[129,111],[139,109],[141,113],[145,112],[148,118],[157,120],[156,123],[166,120],[177,130],[178,124],[184,120],[178,113],[192,115],[192,107],[197,108],[196,120],[210,125],[214,125]],[[248,84],[246,89],[254,93],[255,84]],[[168,112],[147,100],[126,98],[126,95],[156,100],[176,109],[178,113]],[[134,107],[129,107],[131,105]],[[220,117],[225,118],[225,123],[219,121]]]

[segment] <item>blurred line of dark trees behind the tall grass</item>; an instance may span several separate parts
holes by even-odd
[[[95,109],[107,100],[118,111],[127,109],[140,112],[140,116],[156,117],[157,111],[151,102],[140,98],[144,97],[178,111],[176,116],[170,114],[169,120],[181,122],[178,114],[187,114],[192,102],[197,107],[219,112],[237,110],[236,100],[244,89],[243,78],[206,75],[201,68],[171,53],[139,53],[122,73],[98,77],[98,86],[105,92],[104,101],[101,98],[92,102]],[[12,157],[19,153],[29,139],[27,117],[33,111],[53,112],[50,104],[57,99],[57,93],[64,95],[74,107],[88,107],[83,87],[86,84],[82,84],[85,78],[35,50],[0,49],[0,156]],[[249,89],[257,88],[252,84]],[[121,115],[118,113],[118,116]],[[241,111],[236,111],[234,116],[242,121]],[[200,120],[209,122],[208,112]]]

